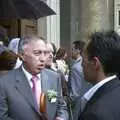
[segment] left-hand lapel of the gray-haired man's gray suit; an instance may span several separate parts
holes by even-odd
[[[27,82],[26,76],[24,75],[22,69],[20,68],[16,74],[16,89],[21,93],[21,95],[26,99],[26,101],[35,109],[37,112],[38,106],[32,94],[29,83]]]

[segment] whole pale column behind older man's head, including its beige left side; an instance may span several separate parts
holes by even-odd
[[[50,15],[38,19],[38,35],[48,42],[53,42],[57,48],[60,46],[60,3],[59,0],[43,0],[52,8],[56,15]]]

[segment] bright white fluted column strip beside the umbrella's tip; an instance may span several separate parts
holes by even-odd
[[[47,0],[56,15],[47,17],[47,40],[60,47],[60,0]]]

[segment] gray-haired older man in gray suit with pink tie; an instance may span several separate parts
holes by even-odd
[[[68,119],[59,76],[44,69],[45,48],[45,42],[37,36],[20,40],[22,66],[0,78],[0,120]],[[42,93],[49,99],[42,99]]]

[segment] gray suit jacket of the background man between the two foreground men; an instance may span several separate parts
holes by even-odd
[[[70,68],[68,78],[68,89],[71,99],[74,101],[77,97],[82,96],[89,88],[89,84],[84,80],[82,58],[74,61]]]

